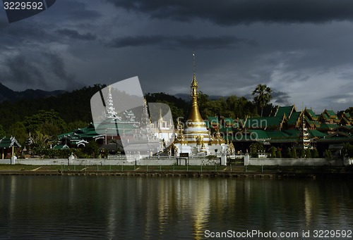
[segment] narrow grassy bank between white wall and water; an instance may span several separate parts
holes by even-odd
[[[282,166],[82,166],[82,165],[0,165],[0,175],[53,176],[145,176],[145,177],[252,177],[252,178],[345,178],[352,179],[352,168]]]

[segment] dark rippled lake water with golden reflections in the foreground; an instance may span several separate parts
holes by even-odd
[[[0,239],[265,239],[269,232],[304,239],[303,231],[306,239],[352,239],[352,187],[333,179],[1,176]]]

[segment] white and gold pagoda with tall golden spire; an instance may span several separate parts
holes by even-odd
[[[195,75],[195,54],[193,54],[193,80],[191,82],[191,108],[185,122],[185,129],[178,124],[177,139],[174,145],[179,153],[203,153],[206,155],[223,153],[227,149],[225,140],[217,132],[213,138],[198,110],[198,82]]]

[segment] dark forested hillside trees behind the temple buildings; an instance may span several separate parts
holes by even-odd
[[[0,103],[0,137],[14,136],[20,144],[25,144],[29,134],[36,144],[42,146],[49,139],[92,122],[90,99],[100,89],[107,87],[95,84],[71,92],[49,96],[45,99],[22,99],[15,102]],[[175,118],[186,117],[189,101],[163,92],[146,94],[148,102],[167,103]],[[207,94],[199,92],[198,104],[203,118],[225,116],[246,118],[258,115],[258,103],[244,96],[228,96],[211,100]]]

